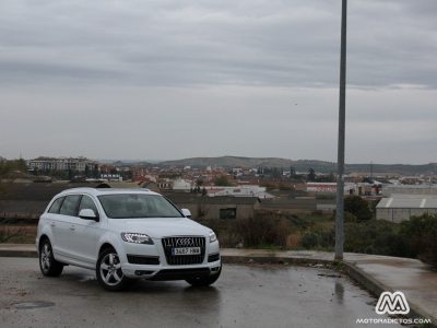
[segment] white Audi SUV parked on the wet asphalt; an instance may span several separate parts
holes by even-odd
[[[189,216],[146,189],[64,190],[39,219],[40,270],[57,277],[66,265],[92,269],[110,291],[139,278],[212,284],[222,271],[218,241]]]

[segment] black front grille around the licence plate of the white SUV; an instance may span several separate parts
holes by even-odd
[[[169,266],[199,265],[203,262],[205,255],[204,237],[165,237],[162,239],[165,258]],[[200,247],[200,255],[173,255],[173,248]]]

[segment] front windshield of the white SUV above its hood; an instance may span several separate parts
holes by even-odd
[[[117,194],[98,196],[110,219],[184,218],[167,199],[160,195]]]

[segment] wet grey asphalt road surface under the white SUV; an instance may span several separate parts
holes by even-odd
[[[36,259],[0,258],[1,327],[353,327],[379,317],[375,303],[322,268],[226,265],[211,288],[140,281],[109,293],[88,270],[50,279]]]

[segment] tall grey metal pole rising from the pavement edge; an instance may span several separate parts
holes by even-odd
[[[336,161],[336,215],[335,215],[335,260],[343,260],[344,244],[344,131],[346,107],[346,19],[347,0],[342,0],[341,49],[340,49],[340,102],[339,102],[339,148]]]

